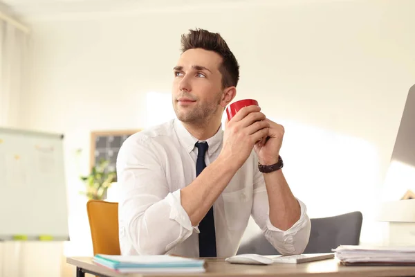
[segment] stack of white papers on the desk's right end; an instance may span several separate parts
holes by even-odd
[[[415,265],[415,247],[340,245],[333,249],[344,265]]]

